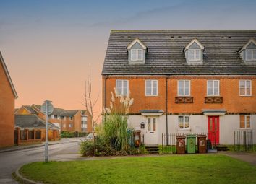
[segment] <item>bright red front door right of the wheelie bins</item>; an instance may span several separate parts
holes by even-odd
[[[219,116],[208,116],[208,139],[212,144],[219,144],[220,142]]]

